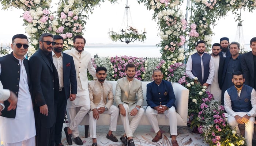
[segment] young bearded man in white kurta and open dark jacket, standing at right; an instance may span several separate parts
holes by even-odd
[[[212,84],[210,86],[210,92],[213,94],[214,99],[217,101],[221,101],[221,88],[222,88],[222,72],[225,57],[219,55],[221,52],[221,45],[219,43],[214,43],[212,45],[212,58],[214,63],[214,75]]]

